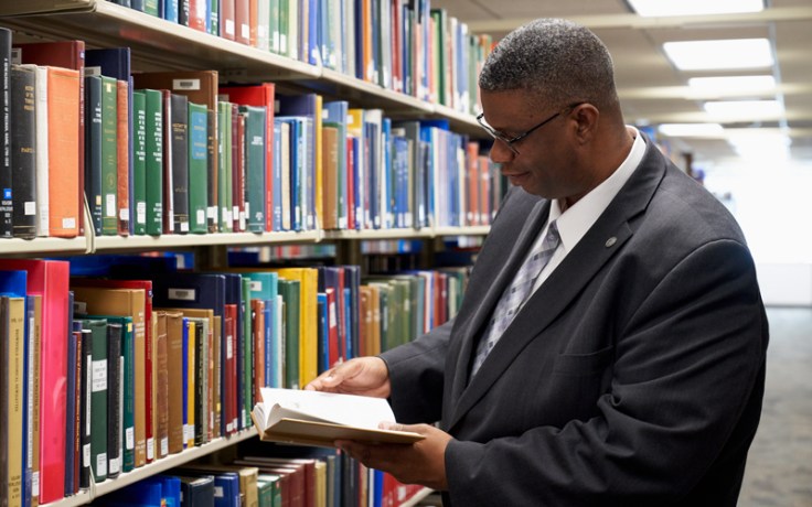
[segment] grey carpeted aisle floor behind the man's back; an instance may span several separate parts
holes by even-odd
[[[812,506],[812,309],[768,308],[761,424],[739,507]]]

